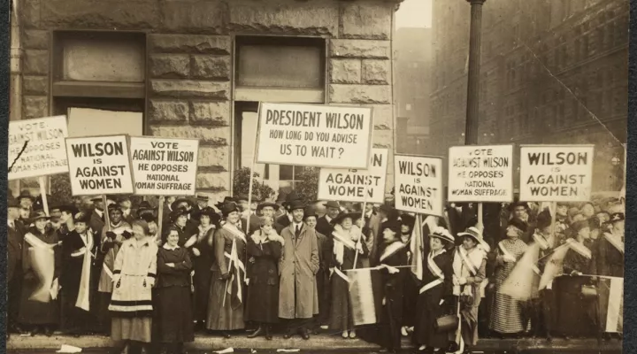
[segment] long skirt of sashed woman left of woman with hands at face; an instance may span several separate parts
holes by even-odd
[[[226,302],[224,303],[225,293],[226,281],[217,279],[213,273],[206,327],[213,331],[232,331],[245,328],[245,323],[243,322],[243,308],[246,301],[245,291],[242,292],[242,304],[235,304],[235,300],[230,294],[226,294]]]

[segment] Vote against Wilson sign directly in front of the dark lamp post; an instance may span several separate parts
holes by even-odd
[[[449,148],[449,202],[513,201],[513,145]]]

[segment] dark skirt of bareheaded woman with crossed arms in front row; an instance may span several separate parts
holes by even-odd
[[[159,331],[161,342],[193,342],[192,304],[190,287],[159,288]]]

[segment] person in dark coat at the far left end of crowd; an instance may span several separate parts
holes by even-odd
[[[10,196],[7,204],[7,334],[19,333],[18,309],[22,289],[22,242],[24,230],[19,224],[20,205]]]

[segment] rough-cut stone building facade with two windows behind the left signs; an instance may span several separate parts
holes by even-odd
[[[392,151],[401,1],[19,0],[12,119],[141,112],[145,135],[200,140],[197,189],[211,196],[232,190],[251,139],[242,112],[259,101],[371,106],[373,145]]]

